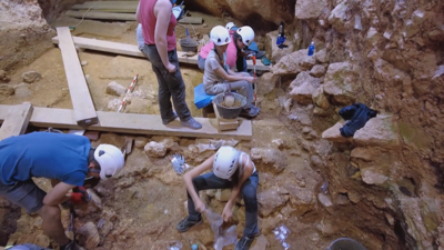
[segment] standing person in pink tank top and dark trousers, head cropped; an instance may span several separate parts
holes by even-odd
[[[185,83],[179,68],[174,27],[175,17],[170,0],[140,0],[135,17],[142,24],[144,44],[141,51],[151,62],[159,83],[159,107],[162,123],[168,124],[179,116],[181,124],[201,129],[191,117],[185,102]],[[171,104],[173,100],[173,106]]]

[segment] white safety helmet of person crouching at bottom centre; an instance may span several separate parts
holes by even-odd
[[[239,152],[233,147],[221,147],[214,157],[213,172],[221,179],[230,179],[238,169]]]

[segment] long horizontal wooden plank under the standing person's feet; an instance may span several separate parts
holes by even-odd
[[[0,104],[0,121],[3,121],[11,106]],[[235,140],[251,140],[253,136],[252,122],[242,120],[241,126],[235,131],[219,132],[215,119],[194,118],[202,123],[202,129],[193,130],[180,126],[180,121],[175,120],[168,126],[162,124],[159,114],[140,114],[140,113],[117,113],[98,111],[100,124],[88,127],[92,131],[105,131],[130,134],[158,134],[172,137],[191,137],[191,138],[212,138]],[[34,107],[29,121],[30,124],[39,128],[57,128],[57,129],[82,129],[74,118],[74,111],[70,109],[38,108]]]

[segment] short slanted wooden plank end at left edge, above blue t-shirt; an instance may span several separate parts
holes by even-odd
[[[24,133],[31,118],[32,104],[24,102],[23,104],[10,106],[4,113],[7,116],[0,128],[0,140]]]

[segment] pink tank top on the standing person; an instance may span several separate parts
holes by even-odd
[[[154,4],[158,0],[141,0],[140,1],[140,20],[142,22],[142,30],[143,30],[143,40],[147,44],[155,44],[154,40],[154,30],[155,23],[158,19],[154,16]],[[171,11],[170,23],[167,30],[167,43],[168,43],[168,51],[175,49],[175,34],[174,34],[174,27],[178,21],[174,18],[173,12]]]

